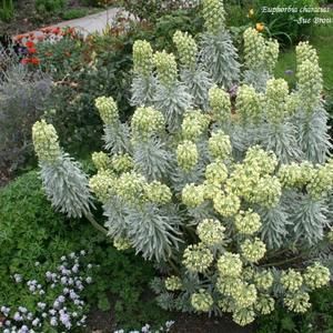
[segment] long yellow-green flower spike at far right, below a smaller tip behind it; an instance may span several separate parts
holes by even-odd
[[[317,64],[305,60],[297,67],[296,77],[299,79],[297,88],[302,104],[307,108],[307,112],[313,112],[313,109],[321,101],[323,91],[322,70]]]

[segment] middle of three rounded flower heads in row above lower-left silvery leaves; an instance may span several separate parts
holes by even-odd
[[[145,184],[145,179],[141,174],[133,171],[124,172],[115,181],[115,193],[125,201],[134,202],[141,198]]]

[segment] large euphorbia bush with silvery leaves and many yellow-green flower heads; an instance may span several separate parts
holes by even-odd
[[[199,44],[173,37],[179,64],[135,42],[129,122],[111,97],[95,100],[108,151],[92,154],[95,175],[62,151],[51,124],[33,125],[44,190],[117,249],[154,260],[163,309],[230,312],[240,325],[275,304],[304,313],[332,268],[333,160],[316,51],[297,46],[290,91],[272,75],[276,41],[246,29],[241,71],[222,2],[204,0],[202,14]]]

